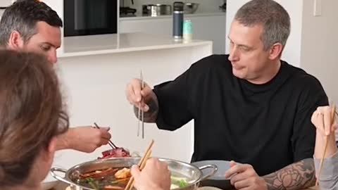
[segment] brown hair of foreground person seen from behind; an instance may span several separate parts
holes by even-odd
[[[0,189],[25,184],[39,153],[68,130],[64,107],[44,56],[0,51]]]

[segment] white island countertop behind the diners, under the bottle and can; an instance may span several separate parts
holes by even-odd
[[[210,41],[194,39],[189,42],[175,41],[172,37],[155,34],[125,33],[102,34],[79,37],[64,37],[58,58],[89,56],[105,53],[123,53],[152,49],[171,49],[178,47],[211,45]]]

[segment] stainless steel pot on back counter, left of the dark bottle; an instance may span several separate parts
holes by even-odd
[[[165,4],[147,4],[142,5],[142,15],[158,16],[171,15],[171,5]]]

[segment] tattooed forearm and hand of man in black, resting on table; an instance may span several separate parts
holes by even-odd
[[[230,183],[240,190],[304,189],[315,184],[315,167],[313,159],[307,158],[260,177],[252,165],[231,161],[225,177],[231,177]]]

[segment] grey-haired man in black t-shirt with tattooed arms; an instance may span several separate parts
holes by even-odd
[[[315,77],[280,60],[289,32],[289,15],[280,4],[249,1],[230,27],[230,55],[203,58],[154,89],[146,84],[141,91],[134,79],[127,99],[160,129],[194,120],[192,162],[234,160],[225,177],[232,176],[236,189],[311,186],[311,115],[328,102]]]

